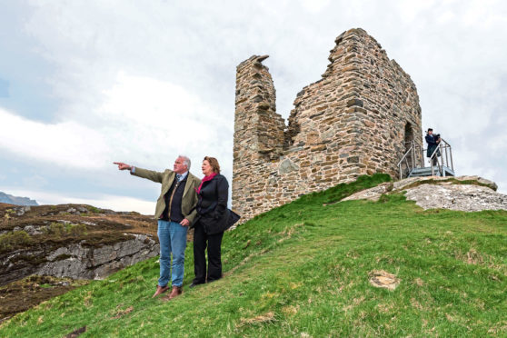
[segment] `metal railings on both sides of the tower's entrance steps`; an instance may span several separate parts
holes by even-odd
[[[405,145],[409,145],[408,150],[403,154],[402,159],[398,162],[398,170],[400,173],[400,179],[403,179],[403,174],[410,174],[415,168],[425,168],[424,153],[427,148],[422,148],[420,144],[415,142],[407,142]],[[439,155],[440,154],[440,155]],[[440,161],[439,161],[440,158]],[[433,165],[433,163],[435,165]],[[432,168],[432,175],[435,174],[435,166],[438,172],[442,175],[443,167],[446,166],[454,171],[454,164],[452,163],[452,147],[447,141],[441,138],[440,143],[429,157],[429,164]]]

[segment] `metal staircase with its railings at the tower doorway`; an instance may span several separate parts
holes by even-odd
[[[441,142],[429,158],[428,166],[424,163],[426,149],[413,141],[407,145],[409,144],[409,149],[398,162],[400,179],[417,176],[455,176],[451,144],[444,139],[441,138]]]

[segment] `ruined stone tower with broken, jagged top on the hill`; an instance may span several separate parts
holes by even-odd
[[[243,220],[361,174],[395,177],[406,144],[422,146],[410,75],[363,29],[335,43],[322,79],[297,94],[288,125],[276,113],[268,56],[237,66],[233,208]]]

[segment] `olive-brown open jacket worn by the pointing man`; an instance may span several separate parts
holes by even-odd
[[[164,195],[167,194],[171,185],[173,184],[174,179],[176,178],[176,173],[174,171],[165,169],[164,173],[155,172],[153,170],[146,170],[142,168],[135,167],[134,173],[131,173],[134,176],[139,176],[143,178],[147,178],[148,180],[152,180],[154,182],[158,182],[162,184],[162,189],[160,190],[160,196],[156,201],[155,208],[155,218],[160,218],[162,213],[164,213],[165,209],[165,198]],[[186,176],[186,184],[184,185],[184,195],[182,200],[182,214],[184,218],[190,221],[190,226],[194,225],[195,216],[197,215],[197,211],[195,210],[195,204],[197,204],[197,193],[195,189],[199,187],[201,184],[201,180],[195,177],[193,174],[188,173]]]

